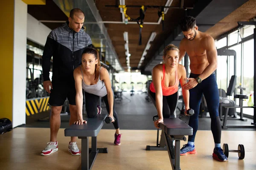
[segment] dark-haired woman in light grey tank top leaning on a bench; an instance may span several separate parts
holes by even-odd
[[[81,62],[82,64],[74,70],[74,79],[76,82],[76,108],[78,114],[78,120],[74,122],[74,124],[82,125],[83,123],[86,123],[82,116],[82,90],[85,91],[85,108],[88,118],[93,118],[97,115],[97,103],[99,97],[102,97],[106,104],[109,117],[112,118],[113,125],[116,129],[114,144],[119,145],[121,133],[117,113],[114,108],[114,95],[108,70],[100,66],[99,53],[93,48],[86,48],[84,50]]]

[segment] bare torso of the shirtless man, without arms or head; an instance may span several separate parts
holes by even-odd
[[[190,59],[190,70],[193,74],[202,74],[204,69],[209,65],[207,60],[206,50],[204,48],[205,37],[209,35],[200,32],[197,39],[192,41],[183,39],[183,49]]]

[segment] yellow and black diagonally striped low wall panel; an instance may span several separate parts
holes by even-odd
[[[31,116],[37,113],[45,112],[50,110],[50,105],[48,105],[49,96],[27,99],[26,100],[26,115]]]

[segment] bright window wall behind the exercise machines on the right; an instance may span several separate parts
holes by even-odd
[[[240,89],[238,89],[239,85],[246,88],[246,90],[243,91],[244,95],[249,97],[250,94],[254,94],[254,40],[251,39],[241,43],[241,37],[244,38],[253,35],[254,28],[255,26],[244,26],[240,29],[240,33],[236,30],[227,35],[227,37],[215,41],[217,48],[228,46],[228,49],[236,51],[236,62],[234,61],[233,56],[218,56],[218,68],[216,74],[218,88],[227,91],[230,78],[234,75],[234,66],[236,65],[236,94],[240,94]],[[233,47],[229,48],[231,45]],[[233,100],[233,96],[231,96],[230,99]],[[236,105],[239,105],[239,99],[235,99],[235,101]],[[249,99],[244,100],[243,105],[247,106],[248,101]],[[256,101],[253,102],[255,103]],[[236,111],[240,112],[240,109],[237,109]],[[253,116],[253,109],[244,108],[243,113]]]

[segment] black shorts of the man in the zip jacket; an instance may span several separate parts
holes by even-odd
[[[75,81],[52,81],[52,88],[49,98],[49,105],[62,106],[66,99],[70,105],[76,105]]]

